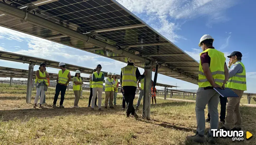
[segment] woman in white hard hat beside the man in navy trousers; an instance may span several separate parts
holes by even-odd
[[[73,78],[73,91],[74,91],[74,95],[75,95],[74,108],[79,108],[78,102],[79,102],[79,99],[81,97],[81,92],[82,92],[83,81],[80,76],[80,73],[81,72],[79,70],[75,71],[75,76]]]

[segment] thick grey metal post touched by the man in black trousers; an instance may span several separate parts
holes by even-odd
[[[152,79],[152,67],[145,66],[144,70],[147,74],[144,79],[144,91],[143,91],[143,114],[142,117],[150,119],[150,99],[151,99],[151,79]]]

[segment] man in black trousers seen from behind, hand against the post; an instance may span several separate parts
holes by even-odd
[[[134,62],[134,59],[129,58],[127,60],[127,66],[121,69],[120,84],[123,88],[124,98],[127,103],[126,117],[129,117],[131,114],[135,119],[138,119],[138,115],[135,113],[133,107],[133,100],[137,89],[137,79],[143,79],[147,72],[144,71],[143,75],[141,75],[138,67],[134,66]]]

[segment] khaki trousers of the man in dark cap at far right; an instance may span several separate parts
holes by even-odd
[[[229,101],[227,103],[227,117],[225,120],[224,127],[226,129],[231,129],[231,123],[235,122],[236,128],[241,128],[241,113],[240,113],[240,100],[242,98],[242,95],[244,93],[243,90],[237,90],[237,89],[231,89],[233,90],[239,97],[238,98],[227,98]]]

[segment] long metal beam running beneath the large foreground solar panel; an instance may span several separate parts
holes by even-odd
[[[13,6],[10,6],[6,3],[3,3],[2,1],[0,1],[0,12],[4,13],[4,14],[7,14],[7,15],[10,15],[10,16],[13,16],[13,17],[16,17],[16,18],[21,19],[21,20],[23,20],[24,16],[26,16],[26,12],[23,12],[21,9],[18,9],[16,7],[13,7]],[[76,31],[74,31],[74,30],[65,28],[64,26],[53,23],[49,20],[43,19],[43,18],[41,18],[39,16],[36,16],[36,15],[33,15],[31,13],[28,14],[27,22],[33,23],[33,24],[38,25],[38,26],[45,27],[47,29],[59,32],[63,35],[67,35],[67,36],[76,38],[76,39],[81,40],[81,41],[88,41],[88,36],[86,36],[86,35],[83,35],[81,33],[78,33]],[[127,57],[131,57],[131,58],[134,58],[136,60],[140,60],[142,62],[145,62],[146,64],[150,63],[150,60],[148,60],[148,59],[137,56],[135,54],[132,54],[128,51],[124,51],[122,49],[119,50],[117,47],[112,46],[110,44],[107,44],[105,42],[101,42],[101,41],[98,41],[96,39],[91,38],[90,43],[93,44],[93,45],[111,50],[112,52],[115,52],[117,54],[123,54]],[[184,55],[186,55],[186,54],[184,54]],[[177,74],[177,75],[182,76],[184,78],[187,78],[187,79],[198,82],[197,79],[191,78],[191,77],[189,77],[187,75],[184,75],[184,74],[181,74],[180,72],[171,70],[168,67],[162,66],[162,69],[164,69],[166,71],[173,72],[173,74]]]

